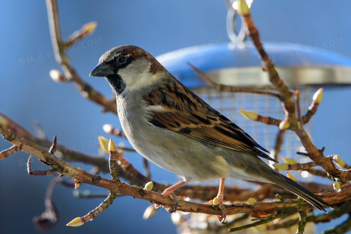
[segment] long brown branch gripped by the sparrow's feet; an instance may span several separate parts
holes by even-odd
[[[124,182],[118,180],[108,180],[101,178],[101,176],[93,175],[87,173],[81,168],[75,168],[68,163],[57,158],[52,153],[48,152],[41,146],[28,141],[26,139],[20,138],[11,130],[5,128],[0,124],[0,134],[8,141],[18,146],[22,144],[22,151],[29,154],[33,154],[35,157],[39,158],[44,164],[50,166],[52,169],[56,170],[61,175],[73,178],[82,183],[87,183],[90,185],[98,186],[110,190],[111,192],[117,192],[119,194],[133,196],[134,198],[148,200],[159,205],[172,207],[174,205],[173,200],[169,196],[162,195],[153,191],[148,192],[146,195],[142,196],[140,194],[139,187],[128,185]],[[326,202],[333,204],[335,202],[341,202],[351,199],[349,193],[351,192],[351,187],[343,189],[340,193],[329,192],[323,193],[319,196]],[[282,201],[277,202],[256,202],[253,207],[247,204],[232,204],[226,206],[228,214],[237,213],[274,213],[274,211],[284,211],[287,208],[294,207],[294,209],[308,209],[311,206],[302,200],[294,200],[291,203],[286,203]],[[197,212],[205,214],[220,215],[221,211],[219,209],[214,209],[212,205],[205,205],[201,203],[194,203],[181,200],[178,205],[178,209],[184,212]]]

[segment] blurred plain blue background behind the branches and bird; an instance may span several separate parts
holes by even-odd
[[[95,33],[83,41],[100,38],[101,43],[83,48],[78,42],[81,49],[68,54],[82,79],[106,96],[111,96],[107,82],[88,75],[99,57],[112,47],[131,44],[155,55],[219,38],[229,42],[225,29],[227,9],[222,1],[62,0],[58,5],[63,38],[87,22],[98,22]],[[327,49],[349,56],[350,7],[349,1],[254,1],[252,15],[263,41],[322,45],[325,41],[343,38],[343,44]],[[47,56],[48,51],[52,53],[52,45],[44,1],[3,1],[0,22],[0,112],[31,131],[32,120],[36,120],[49,139],[57,134],[59,143],[71,147],[94,141],[98,135],[109,137],[102,130],[105,123],[120,127],[115,115],[101,114],[101,107],[82,98],[72,83],[55,83],[50,79],[49,71],[60,70],[60,67],[53,56]],[[42,53],[44,59],[37,61],[37,53]],[[35,61],[26,61],[25,65],[19,66],[18,59],[26,59],[29,55],[34,55]],[[349,163],[350,95],[349,87],[325,88],[323,102],[313,117],[314,142],[323,145],[324,142],[343,139],[344,144],[327,148],[325,154],[339,154]],[[115,138],[115,142],[118,140]],[[0,140],[1,150],[9,146],[11,144]],[[128,142],[126,146],[129,146]],[[93,146],[82,152],[96,155],[97,149]],[[31,218],[44,211],[45,190],[51,178],[28,176],[26,167],[18,166],[18,160],[28,156],[19,152],[0,162],[2,233],[37,232]],[[127,158],[138,167],[139,154],[130,153]],[[33,163],[33,168],[44,169],[40,164]],[[86,170],[91,168],[80,163],[73,165]],[[177,181],[174,174],[154,165],[151,173],[155,181]],[[108,177],[107,174],[103,176]],[[88,185],[82,185],[80,189],[106,193]],[[145,221],[141,217],[150,203],[127,196],[117,198],[93,222],[79,228],[66,227],[67,222],[85,215],[103,199],[74,199],[72,189],[61,185],[55,188],[53,199],[61,215],[56,227],[48,233],[176,233],[165,210]],[[330,223],[320,224],[318,231],[330,226]]]

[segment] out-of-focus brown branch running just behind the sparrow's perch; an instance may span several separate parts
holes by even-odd
[[[0,113],[0,122],[6,123],[5,127],[11,129],[14,133],[21,136],[25,139],[31,139],[32,142],[38,143],[41,146],[49,148],[52,146],[51,141],[41,140],[36,136],[32,135],[27,129],[14,122],[12,119]],[[15,146],[13,146],[15,148]],[[108,173],[110,172],[108,167],[108,161],[104,158],[98,156],[88,156],[86,154],[80,153],[78,151],[69,151],[68,147],[57,144],[56,146],[56,155],[60,157],[60,159],[65,161],[78,161],[87,164],[91,164],[97,166],[101,172]],[[150,181],[150,178],[144,176],[140,173],[130,162],[128,162],[122,154],[119,152],[116,153],[118,156],[119,162],[116,163],[116,169],[118,174],[128,180],[132,185],[135,186],[143,186],[145,183]],[[322,172],[322,171],[321,171]],[[37,171],[32,171],[31,173],[39,173]],[[46,173],[51,173],[48,171],[40,172],[44,175]],[[325,173],[325,172],[324,172]],[[326,173],[325,173],[326,174]],[[155,191],[162,192],[164,189],[169,187],[168,184],[162,184],[153,181],[153,187]],[[304,187],[310,188],[312,192],[320,192],[321,190],[326,189],[325,186],[317,184],[317,183],[308,183],[303,184]],[[329,188],[332,191],[332,187]],[[180,187],[175,191],[176,195],[182,197],[189,197],[193,199],[201,199],[204,201],[208,201],[213,199],[214,196],[217,195],[218,188],[217,186],[199,186],[199,185],[185,185]],[[226,187],[224,190],[224,199],[228,201],[247,201],[250,197],[257,197],[259,195],[265,194],[266,198],[274,198],[276,193],[282,194],[282,189],[276,185],[273,185],[268,189],[268,187],[255,187],[253,189],[239,189],[239,188],[231,188]],[[287,198],[293,198],[290,192],[284,193]]]

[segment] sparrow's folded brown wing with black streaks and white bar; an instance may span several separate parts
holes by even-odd
[[[154,126],[275,161],[256,148],[268,152],[249,134],[210,107],[180,82],[168,83],[170,83],[168,86],[161,87],[144,97],[150,105],[152,114],[149,122]]]

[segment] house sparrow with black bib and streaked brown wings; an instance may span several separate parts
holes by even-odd
[[[224,181],[227,177],[274,183],[312,206],[332,208],[297,182],[274,171],[259,157],[274,162],[249,134],[180,83],[152,55],[124,45],[99,59],[90,76],[106,77],[117,98],[118,116],[134,149],[183,180],[163,194],[195,180],[220,179],[217,198],[225,221]],[[259,157],[258,157],[259,156]]]

